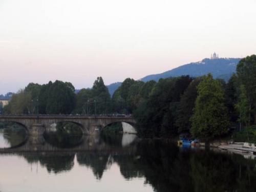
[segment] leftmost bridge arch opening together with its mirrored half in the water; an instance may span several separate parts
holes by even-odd
[[[0,123],[0,148],[15,147],[27,138],[26,130],[17,123]]]

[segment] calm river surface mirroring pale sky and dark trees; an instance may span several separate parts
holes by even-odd
[[[2,133],[0,143],[8,138]],[[63,139],[56,141],[60,149]],[[94,141],[85,151],[0,154],[0,191],[256,190],[256,161],[242,155],[179,148],[134,135]]]

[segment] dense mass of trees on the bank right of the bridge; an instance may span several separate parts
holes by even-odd
[[[210,139],[255,124],[255,74],[256,56],[252,55],[241,59],[237,74],[227,83],[210,74],[190,81],[185,81],[186,76],[160,79],[134,112],[139,134],[169,137],[185,133]]]

